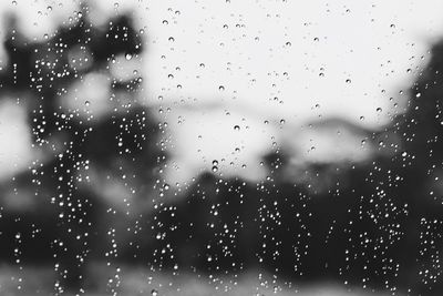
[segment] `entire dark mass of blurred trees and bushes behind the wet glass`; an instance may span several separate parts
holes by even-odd
[[[35,147],[51,151],[62,143],[63,152],[0,184],[0,201],[11,192],[38,198],[32,211],[1,205],[3,262],[56,266],[66,288],[80,287],[87,263],[99,261],[213,275],[259,268],[289,282],[333,279],[413,295],[443,290],[441,43],[409,93],[408,112],[382,132],[364,131],[389,153],[362,164],[312,165],[307,185],[285,177],[288,155],[277,151],[264,155],[269,181],[204,174],[186,197],[162,203],[154,200],[168,194],[161,181],[166,154],[151,110],[123,104],[87,121],[60,108],[75,81],[92,72],[110,75],[107,65],[117,54],[144,50],[130,18],[111,20],[104,30],[82,19],[41,43],[24,40],[13,21],[8,31],[1,100],[27,92]],[[78,44],[93,57],[79,71],[69,68],[68,54]],[[115,100],[135,96],[121,83],[110,78]],[[90,184],[78,182],[79,173]],[[328,187],[316,191],[327,178]],[[100,182],[99,188],[121,183],[136,191],[128,201],[110,201],[95,186]]]

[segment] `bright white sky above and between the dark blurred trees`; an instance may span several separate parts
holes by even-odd
[[[28,38],[41,40],[76,16],[75,2],[2,1],[0,14],[16,13]],[[346,131],[339,139],[336,132],[316,133],[306,124],[319,115],[374,130],[388,124],[403,111],[399,91],[410,88],[429,61],[430,45],[443,35],[440,0],[116,2],[93,1],[91,19],[103,24],[130,11],[135,29],[145,31],[147,51],[136,65],[142,104],[164,110],[155,113],[169,127],[171,184],[210,170],[213,160],[218,173],[259,180],[266,174],[259,159],[272,142],[301,163],[364,160],[369,150],[356,145],[360,139]],[[23,129],[17,121],[1,124],[2,145],[13,129]],[[24,161],[25,151],[18,149],[16,159],[0,154],[0,163]],[[8,167],[22,165],[1,166],[0,176]]]

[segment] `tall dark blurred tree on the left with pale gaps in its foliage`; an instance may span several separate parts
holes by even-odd
[[[10,25],[6,40],[9,64],[0,72],[1,100],[13,98],[8,94],[27,99],[20,103],[28,111],[34,147],[45,152],[45,161],[34,162],[12,183],[0,184],[0,256],[10,263],[55,266],[60,274],[56,289],[79,289],[87,261],[117,256],[113,245],[125,236],[112,238],[109,232],[115,232],[119,221],[127,222],[120,228],[130,224],[127,210],[115,206],[97,188],[97,182],[106,178],[101,174],[113,174],[110,185],[120,182],[122,187],[137,188],[132,194],[137,196],[134,207],[146,207],[158,177],[153,167],[164,160],[157,147],[159,129],[150,111],[136,103],[137,78],[124,82],[110,73],[119,54],[136,55],[143,50],[142,39],[125,16],[110,20],[105,29],[81,18],[41,43],[22,38],[13,19]],[[85,67],[73,67],[72,54],[78,49],[90,57]],[[113,105],[111,113],[94,119],[84,116],[82,109],[63,106],[63,98],[76,91],[71,86],[91,73],[109,76],[105,88],[112,98],[106,100]],[[90,169],[95,180],[89,178]],[[11,194],[17,198],[31,195],[38,202],[31,208],[10,208],[4,201]],[[125,196],[120,198],[117,203],[124,204]]]

